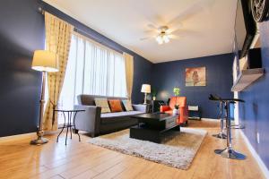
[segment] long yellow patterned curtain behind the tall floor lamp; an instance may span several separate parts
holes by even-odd
[[[56,131],[57,114],[53,114],[65,80],[73,26],[56,16],[45,13],[46,50],[56,53],[59,72],[48,72],[48,103],[44,114],[44,130]]]

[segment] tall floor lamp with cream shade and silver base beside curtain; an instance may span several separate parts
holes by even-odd
[[[48,142],[48,139],[44,138],[43,131],[43,111],[44,111],[44,95],[47,72],[58,72],[56,54],[47,50],[36,50],[33,55],[31,68],[33,70],[42,72],[42,87],[40,97],[39,108],[39,127],[37,131],[38,138],[30,141],[30,144],[41,145]]]

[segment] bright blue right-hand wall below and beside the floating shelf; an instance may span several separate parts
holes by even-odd
[[[239,98],[246,100],[244,105],[239,105],[239,120],[246,125],[244,133],[269,168],[269,21],[260,23],[259,28],[265,76],[239,93]],[[260,134],[260,143],[257,143],[257,132]]]

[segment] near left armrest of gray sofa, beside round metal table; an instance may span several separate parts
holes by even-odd
[[[74,109],[85,110],[85,112],[77,113],[75,119],[76,130],[91,132],[91,135],[98,136],[100,134],[100,111],[101,107],[75,105]]]

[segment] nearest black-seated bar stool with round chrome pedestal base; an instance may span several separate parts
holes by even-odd
[[[226,112],[226,135],[227,135],[227,142],[226,142],[226,148],[225,149],[215,149],[214,152],[216,154],[221,155],[223,158],[231,158],[231,159],[239,159],[243,160],[246,159],[246,156],[235,151],[232,149],[232,143],[231,143],[231,132],[230,132],[230,104],[236,103],[236,102],[242,102],[245,101],[239,98],[219,98],[217,96],[210,95],[210,100],[214,101],[222,101],[224,103],[224,109]]]

